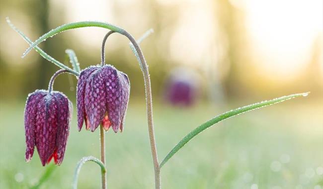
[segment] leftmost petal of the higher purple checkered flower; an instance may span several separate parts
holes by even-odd
[[[97,70],[98,67],[89,67],[83,70],[80,74],[78,80],[78,87],[77,87],[77,111],[78,111],[78,130],[81,131],[83,126],[83,121],[85,118],[85,108],[84,108],[84,93],[85,93],[85,86],[88,77]],[[86,123],[85,123],[86,124]]]

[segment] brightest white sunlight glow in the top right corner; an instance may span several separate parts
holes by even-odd
[[[311,60],[316,40],[322,40],[322,2],[247,1],[247,29],[259,69],[276,77],[302,71]]]

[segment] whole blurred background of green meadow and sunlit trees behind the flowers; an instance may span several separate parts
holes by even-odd
[[[274,97],[297,98],[226,120],[204,131],[162,168],[164,189],[323,188],[323,2],[321,0],[1,0],[0,188],[34,186],[46,170],[37,152],[25,163],[24,103],[47,89],[54,64],[31,52],[5,17],[33,41],[59,25],[99,20],[136,38],[155,32],[141,48],[149,64],[160,160],[190,130],[227,110]],[[81,28],[39,47],[64,62],[75,50],[81,69],[100,63],[107,30]],[[154,186],[142,73],[128,41],[109,37],[106,62],[128,74],[129,108],[123,133],[107,134],[108,188]],[[198,99],[189,107],[165,102],[167,77],[176,67],[198,76]],[[71,188],[83,156],[99,157],[99,132],[77,131],[76,83],[57,78],[54,89],[74,103],[65,159],[42,186]],[[79,188],[99,188],[99,168],[87,163]]]

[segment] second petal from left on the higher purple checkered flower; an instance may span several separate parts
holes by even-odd
[[[92,132],[102,122],[106,112],[104,76],[101,71],[93,72],[85,86],[85,113]]]

